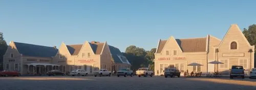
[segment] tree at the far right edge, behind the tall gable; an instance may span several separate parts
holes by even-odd
[[[256,24],[250,25],[248,29],[244,28],[243,34],[251,45],[256,46]]]

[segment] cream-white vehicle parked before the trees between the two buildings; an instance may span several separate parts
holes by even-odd
[[[148,68],[139,68],[136,71],[136,75],[147,77],[147,75],[150,75],[151,77],[154,75],[154,72],[149,70]]]

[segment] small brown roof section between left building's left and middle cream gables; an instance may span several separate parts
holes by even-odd
[[[71,55],[77,55],[82,48],[82,44],[67,45],[67,48]]]

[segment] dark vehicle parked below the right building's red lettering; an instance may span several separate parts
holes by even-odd
[[[175,76],[180,77],[180,71],[176,68],[166,69],[164,71],[164,77],[167,78],[168,76],[170,76],[170,77],[175,77]]]

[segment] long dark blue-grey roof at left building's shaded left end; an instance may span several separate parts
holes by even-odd
[[[57,48],[14,42],[18,52],[27,56],[52,57],[58,52]]]

